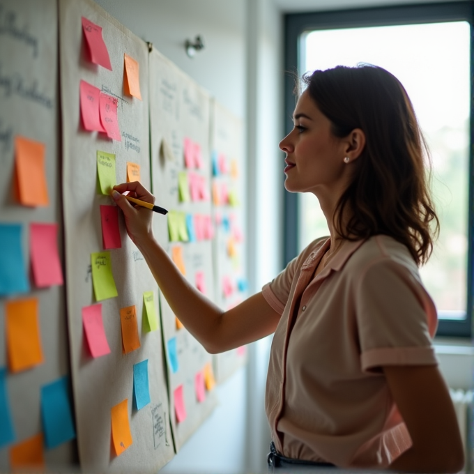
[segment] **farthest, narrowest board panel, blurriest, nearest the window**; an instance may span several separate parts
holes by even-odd
[[[227,310],[247,298],[243,124],[217,100],[211,104],[215,301]],[[242,346],[213,358],[220,383],[247,363],[247,349]]]

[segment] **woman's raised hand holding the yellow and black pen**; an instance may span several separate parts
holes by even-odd
[[[112,191],[112,198],[116,205],[121,208],[125,216],[125,226],[127,227],[128,236],[137,247],[140,247],[144,240],[153,238],[153,229],[151,226],[153,211],[127,201],[125,196],[123,196],[123,192],[125,191],[129,191],[128,195],[130,197],[136,197],[137,199],[151,204],[155,204],[155,197],[151,192],[148,192],[139,181],[118,184],[114,186],[114,190]]]

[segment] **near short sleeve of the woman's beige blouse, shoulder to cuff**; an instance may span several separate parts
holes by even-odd
[[[436,308],[413,270],[389,258],[371,263],[355,286],[362,370],[436,365]]]

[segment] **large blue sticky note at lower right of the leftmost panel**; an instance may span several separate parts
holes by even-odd
[[[55,448],[76,437],[72,423],[68,376],[41,387],[41,417],[47,448]]]

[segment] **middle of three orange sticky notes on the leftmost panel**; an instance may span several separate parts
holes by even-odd
[[[43,362],[38,298],[8,300],[5,303],[5,312],[10,372],[29,369]]]

